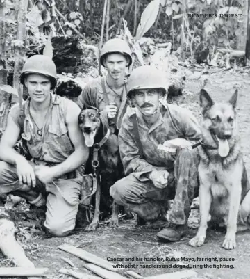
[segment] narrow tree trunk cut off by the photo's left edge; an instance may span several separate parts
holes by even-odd
[[[6,24],[4,18],[5,2],[0,2],[0,84],[7,84],[6,70]],[[1,131],[6,129],[8,111],[9,111],[9,94],[0,90],[0,138]]]

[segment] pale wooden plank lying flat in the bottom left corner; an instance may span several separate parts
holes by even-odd
[[[35,269],[28,267],[0,267],[0,278],[17,276],[45,276],[48,269]]]

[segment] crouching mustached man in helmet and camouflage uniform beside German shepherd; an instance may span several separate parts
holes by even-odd
[[[160,70],[142,66],[128,79],[133,109],[124,115],[119,150],[127,175],[110,188],[118,205],[139,221],[164,228],[159,239],[178,241],[188,229],[190,205],[198,192],[198,151],[183,149],[201,139],[197,120],[187,109],[167,104],[167,80]],[[158,150],[159,145],[168,152]],[[167,221],[168,201],[174,199]]]

